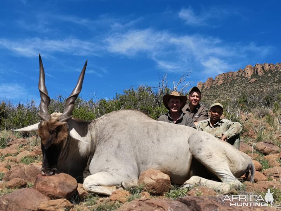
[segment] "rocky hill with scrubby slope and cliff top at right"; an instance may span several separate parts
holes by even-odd
[[[214,101],[232,98],[244,91],[281,90],[281,63],[247,65],[236,72],[219,74],[201,81],[197,86],[202,90],[204,100]],[[230,89],[231,87],[231,89]]]

